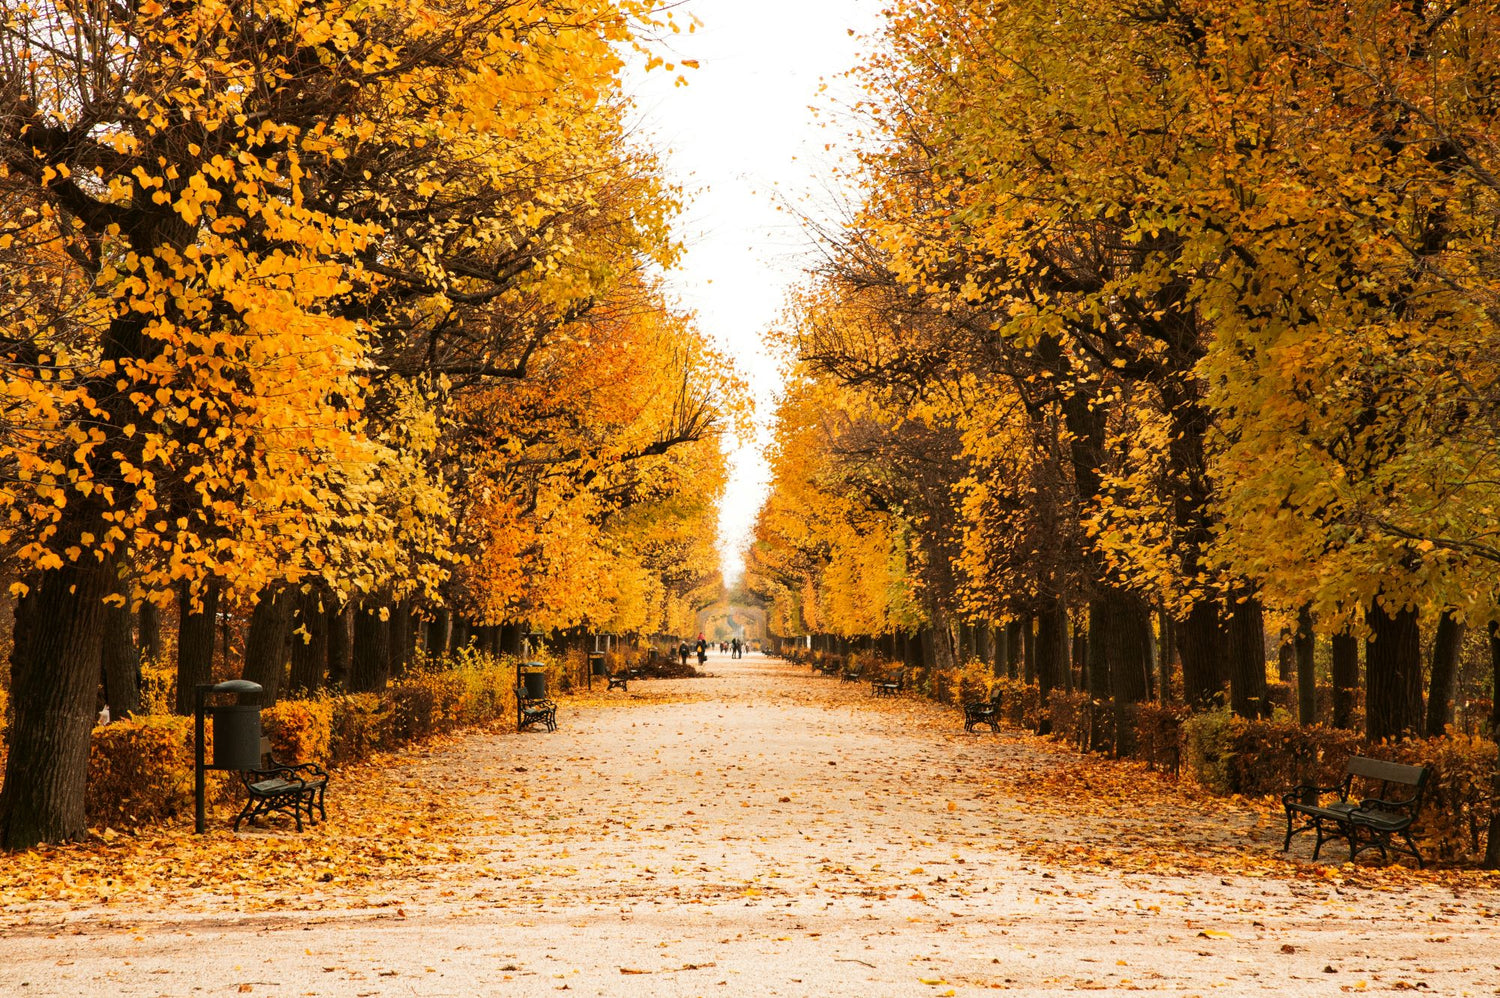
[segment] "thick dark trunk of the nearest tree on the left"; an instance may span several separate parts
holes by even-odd
[[[15,603],[10,725],[0,786],[0,848],[84,836],[88,732],[99,692],[108,564],[92,558],[26,578]]]

